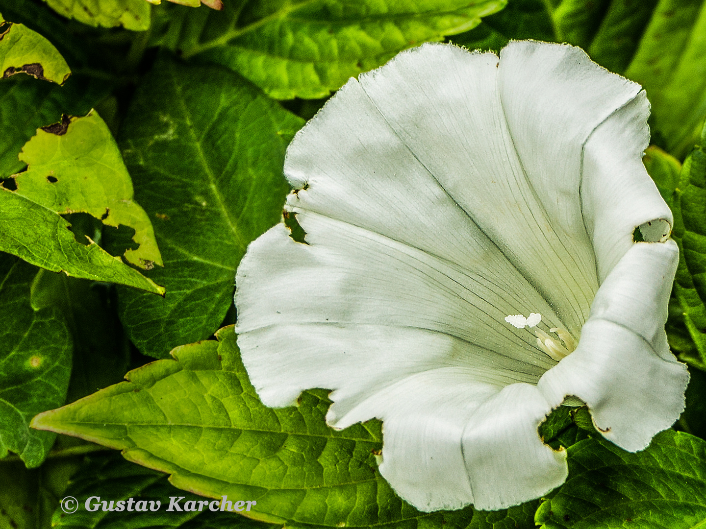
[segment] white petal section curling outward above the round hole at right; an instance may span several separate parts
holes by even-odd
[[[597,257],[599,281],[633,245],[633,231],[647,241],[669,235],[672,215],[642,165],[650,140],[645,92],[618,109],[586,142],[581,196],[586,228]],[[653,232],[653,233],[650,233]]]

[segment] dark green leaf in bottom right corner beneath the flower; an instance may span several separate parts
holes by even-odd
[[[706,523],[706,442],[666,430],[636,454],[600,437],[568,449],[569,476],[537,509],[542,529]]]

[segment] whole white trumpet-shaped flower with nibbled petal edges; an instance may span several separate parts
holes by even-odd
[[[567,396],[644,449],[688,381],[664,332],[678,250],[641,163],[648,114],[639,85],[541,42],[499,61],[426,44],[350,80],[287,150],[308,244],[280,224],[238,269],[263,402],[323,387],[330,425],[383,420],[380,471],[422,511],[561,485],[566,451],[537,427]]]

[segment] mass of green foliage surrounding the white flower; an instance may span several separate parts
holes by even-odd
[[[0,0],[0,529],[704,525],[706,2],[223,4]],[[259,403],[227,327],[235,269],[280,221],[287,143],[347,78],[421,42],[526,38],[576,44],[647,90],[645,165],[682,250],[667,330],[687,408],[639,454],[560,408],[540,430],[568,450],[565,485],[505,511],[419,513],[377,470],[378,422],[333,432],[321,390]],[[53,431],[32,429],[47,411],[35,425]],[[192,492],[257,499],[256,519],[59,507]]]

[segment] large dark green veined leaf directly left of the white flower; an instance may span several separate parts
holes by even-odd
[[[168,293],[119,290],[141,352],[164,358],[220,326],[248,243],[281,219],[285,148],[303,124],[219,66],[164,56],[145,77],[119,138],[164,257],[147,275]]]

